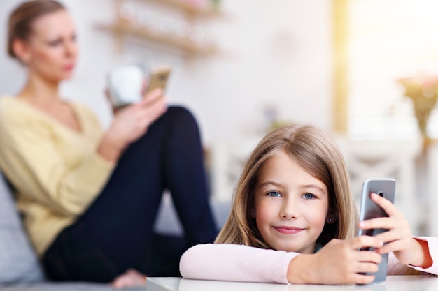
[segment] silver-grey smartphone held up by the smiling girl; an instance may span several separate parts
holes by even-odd
[[[360,201],[359,220],[365,221],[367,219],[388,217],[388,214],[376,203],[371,200],[371,193],[384,197],[390,202],[394,203],[395,195],[395,180],[394,179],[369,179],[362,184],[362,198]],[[359,229],[358,235],[374,236],[388,230],[377,228],[374,230]],[[368,251],[372,248],[362,248],[361,250]],[[388,253],[382,255],[382,260],[379,263],[379,271],[376,273],[366,273],[375,276],[374,282],[383,282],[386,280],[386,273],[388,271]]]

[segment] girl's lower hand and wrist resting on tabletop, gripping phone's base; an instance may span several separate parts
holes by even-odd
[[[332,239],[318,253],[297,255],[292,259],[288,267],[288,281],[330,285],[371,283],[374,276],[360,273],[376,272],[381,255],[359,249],[382,245],[382,241],[369,236]]]

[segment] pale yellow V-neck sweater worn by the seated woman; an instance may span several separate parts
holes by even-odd
[[[24,100],[0,98],[0,168],[39,255],[90,206],[114,167],[97,154],[103,130],[96,116],[69,105],[80,132]]]

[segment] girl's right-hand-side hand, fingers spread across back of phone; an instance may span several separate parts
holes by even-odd
[[[377,248],[376,251],[381,254],[393,252],[403,264],[430,267],[432,258],[430,258],[427,243],[417,241],[412,237],[409,223],[397,207],[376,193],[371,194],[371,199],[388,214],[388,217],[373,218],[359,223],[359,227],[362,230],[374,228],[388,230],[376,235],[377,239],[385,243],[384,246]]]

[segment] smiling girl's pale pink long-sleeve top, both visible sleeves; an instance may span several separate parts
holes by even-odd
[[[416,237],[427,241],[432,266],[427,269],[400,263],[393,253],[388,256],[388,275],[403,275],[414,268],[438,276],[438,237]],[[183,278],[288,283],[290,260],[299,253],[254,248],[239,244],[199,244],[185,251],[180,261]]]

